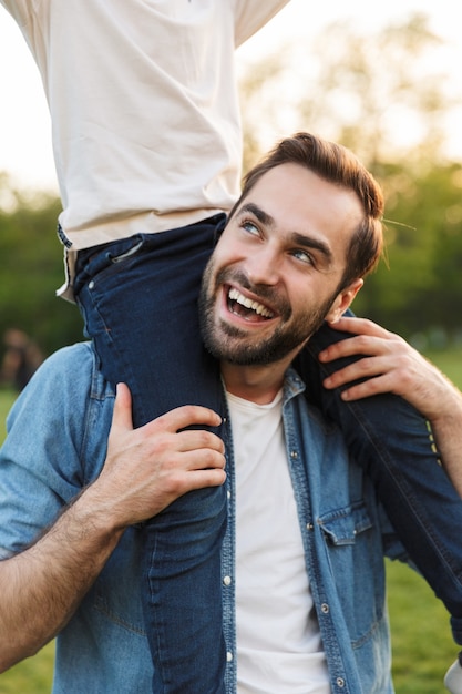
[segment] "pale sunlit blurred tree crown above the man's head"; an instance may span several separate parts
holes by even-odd
[[[461,103],[435,67],[444,49],[423,13],[367,34],[333,22],[311,45],[288,44],[242,74],[245,141],[261,152],[308,130],[352,149],[377,174],[382,162],[435,161],[445,118]]]

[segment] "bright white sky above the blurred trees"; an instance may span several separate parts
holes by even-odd
[[[316,3],[291,0],[239,50],[238,60],[274,52],[278,44],[296,35],[310,40],[336,19],[352,18],[359,27],[378,28],[420,10],[431,18],[432,30],[449,42],[448,76],[462,93],[462,38],[454,7],[454,0],[388,0],[381,3],[370,0],[322,0]],[[19,29],[3,8],[0,8],[0,171],[9,172],[21,187],[55,191],[50,118],[39,72]],[[462,127],[455,125],[454,122],[454,147],[462,154]]]

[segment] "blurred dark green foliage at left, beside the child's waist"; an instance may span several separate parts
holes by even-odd
[[[58,299],[63,284],[63,249],[55,228],[60,202],[25,194],[0,176],[0,337],[18,328],[50,354],[82,338],[75,306]]]

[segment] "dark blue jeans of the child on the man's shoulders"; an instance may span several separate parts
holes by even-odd
[[[86,333],[106,378],[129,384],[136,426],[187,402],[223,411],[218,368],[202,348],[196,307],[202,272],[223,223],[222,216],[213,217],[79,254],[75,290]],[[296,367],[309,399],[337,421],[372,476],[462,643],[462,503],[438,462],[427,422],[404,400],[390,395],[345,404],[321,387],[321,369],[341,365],[320,366],[317,354],[342,337],[322,327]],[[225,516],[224,488],[202,490],[178,499],[144,528],[143,602],[156,692],[224,692],[219,549]]]

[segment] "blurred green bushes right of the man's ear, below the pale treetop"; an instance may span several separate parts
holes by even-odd
[[[355,310],[419,347],[446,347],[462,337],[462,169],[388,166],[387,259],[368,277]]]

